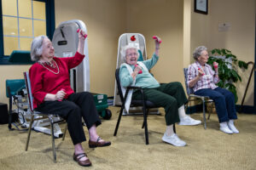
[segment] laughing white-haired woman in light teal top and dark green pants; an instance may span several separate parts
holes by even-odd
[[[129,44],[122,48],[121,55],[125,63],[120,66],[120,83],[124,88],[131,85],[143,88],[145,99],[157,107],[164,107],[166,133],[164,133],[162,140],[175,146],[184,146],[186,143],[173,132],[173,124],[179,122],[180,125],[198,125],[201,121],[196,121],[185,115],[184,104],[188,102],[188,99],[180,82],[160,84],[148,72],[159,59],[159,49],[160,39],[156,39],[153,57],[143,62],[137,62],[138,50],[135,46]],[[142,94],[135,91],[132,94],[132,99],[142,99]]]

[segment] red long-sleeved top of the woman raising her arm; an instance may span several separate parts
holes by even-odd
[[[63,88],[67,93],[64,99],[67,99],[70,94],[74,93],[70,86],[68,71],[79,65],[84,59],[84,55],[77,52],[73,57],[54,57],[53,59],[55,59],[56,64],[59,66],[60,71],[58,74],[51,72],[58,72],[57,68],[51,68],[51,71],[49,71],[38,63],[33,64],[29,69],[34,109],[44,102],[46,94],[56,94]]]

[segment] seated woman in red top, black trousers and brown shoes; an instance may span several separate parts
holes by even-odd
[[[73,57],[57,58],[55,49],[46,36],[35,37],[32,41],[31,58],[36,61],[29,70],[33,106],[36,111],[61,116],[67,121],[67,128],[74,144],[73,160],[80,166],[90,166],[84,153],[85,141],[82,117],[89,130],[89,147],[108,146],[111,143],[101,139],[96,127],[101,120],[96,111],[92,94],[75,94],[70,86],[69,69],[79,65],[84,59],[84,31],[79,31],[79,47]]]

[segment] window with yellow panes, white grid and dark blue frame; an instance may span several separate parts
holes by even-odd
[[[13,50],[29,51],[32,39],[53,36],[54,1],[0,0],[0,65],[8,65]]]

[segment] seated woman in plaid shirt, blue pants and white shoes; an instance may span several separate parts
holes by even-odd
[[[212,66],[207,65],[209,56],[207,48],[204,46],[195,48],[193,57],[195,63],[189,65],[188,69],[187,83],[189,88],[194,89],[194,94],[209,96],[214,101],[220,125],[219,129],[222,132],[239,133],[234,125],[234,120],[237,119],[234,94],[215,85],[219,82],[218,63],[214,63],[216,65],[215,71],[212,71]]]

